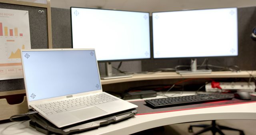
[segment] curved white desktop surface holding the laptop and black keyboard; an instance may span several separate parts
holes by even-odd
[[[191,93],[185,93],[191,94]],[[220,107],[172,111],[135,117],[106,127],[81,133],[81,135],[128,135],[146,129],[176,123],[219,119],[256,120],[256,102]],[[0,125],[0,135],[43,135],[29,126],[29,122],[11,122]]]

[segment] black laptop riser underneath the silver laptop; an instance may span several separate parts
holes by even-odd
[[[130,110],[122,111],[112,115],[107,115],[97,119],[92,119],[90,121],[84,121],[82,123],[77,123],[77,124],[70,125],[67,127],[62,127],[62,128],[56,127],[55,125],[50,123],[48,120],[44,119],[42,116],[35,114],[35,115],[29,116],[31,119],[29,123],[30,123],[30,127],[33,127],[37,131],[44,133],[46,135],[51,135],[51,134],[68,135],[71,133],[72,134],[82,133],[88,130],[97,129],[98,127],[102,127],[110,123],[118,123],[120,121],[129,119],[136,114],[137,114],[136,109],[130,109]]]

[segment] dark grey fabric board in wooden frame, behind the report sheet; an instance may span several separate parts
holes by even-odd
[[[48,48],[48,26],[46,8],[0,3],[0,8],[27,10],[30,25],[31,48]],[[44,10],[44,14],[38,10]],[[23,79],[0,80],[0,91],[25,89]]]

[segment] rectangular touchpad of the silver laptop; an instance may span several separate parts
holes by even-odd
[[[99,109],[98,107],[90,107],[85,109],[80,109],[70,112],[72,115],[78,117],[79,119],[90,119],[99,115],[104,115],[107,112]]]

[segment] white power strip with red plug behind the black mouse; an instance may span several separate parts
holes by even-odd
[[[248,91],[255,92],[255,83],[254,82],[220,82],[220,87],[222,91]],[[206,92],[220,92],[221,89],[212,88],[211,83],[205,85]]]

